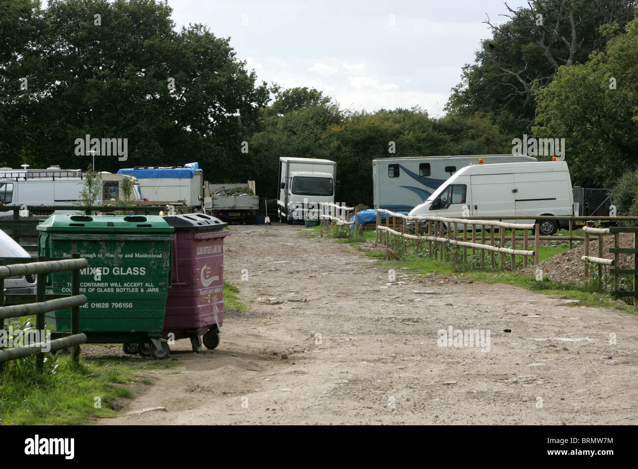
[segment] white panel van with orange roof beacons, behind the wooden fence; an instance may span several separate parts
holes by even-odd
[[[519,216],[574,215],[572,180],[565,161],[471,165],[445,181],[411,216],[502,216],[508,223],[533,223]],[[568,220],[539,220],[541,235],[568,228]]]

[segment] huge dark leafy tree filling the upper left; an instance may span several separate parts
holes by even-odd
[[[155,0],[51,0],[41,13],[31,4],[31,17],[41,16],[38,36],[28,53],[0,61],[9,77],[0,82],[0,161],[16,165],[23,153],[31,165],[82,166],[89,156],[78,161],[74,142],[85,135],[128,141],[127,162],[96,156],[101,170],[180,165],[196,154],[212,173],[241,161],[242,135],[269,89],[228,39],[202,25],[175,33],[171,14]],[[18,17],[18,29],[28,21]],[[33,70],[33,57],[38,73],[12,98],[8,85]]]

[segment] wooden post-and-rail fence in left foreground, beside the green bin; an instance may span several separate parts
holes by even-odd
[[[36,332],[38,334],[34,336],[41,338],[38,343],[12,348],[3,348],[3,344],[0,343],[0,371],[2,371],[4,362],[31,357],[32,355],[36,355],[36,367],[42,371],[44,369],[45,351],[56,352],[69,347],[71,347],[71,359],[74,362],[78,362],[80,356],[78,346],[87,341],[86,334],[80,333],[80,306],[87,302],[87,298],[80,294],[80,269],[84,269],[89,265],[87,260],[80,258],[76,253],[73,254],[73,258],[63,260],[45,260],[44,257],[38,257],[29,262],[29,260],[24,258],[2,258],[0,262],[7,264],[0,265],[0,330],[5,332],[5,338],[9,338],[4,327],[5,319],[36,316]],[[21,264],[17,264],[17,262]],[[47,295],[45,290],[47,274],[63,271],[71,271],[71,296]],[[4,295],[4,279],[23,275],[36,275],[36,302],[4,306],[6,297]],[[33,297],[33,295],[13,296]],[[63,338],[47,341],[45,336],[45,313],[67,308],[71,308],[71,334]],[[28,335],[29,331],[26,334]],[[24,334],[22,337],[24,338]]]

